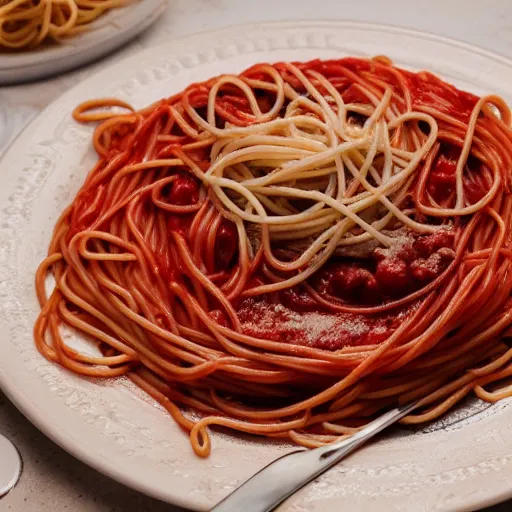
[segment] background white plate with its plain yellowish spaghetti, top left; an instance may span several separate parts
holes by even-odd
[[[0,85],[87,64],[125,44],[166,0],[0,0]]]

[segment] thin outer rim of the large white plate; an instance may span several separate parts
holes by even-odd
[[[207,31],[195,32],[192,34],[188,34],[181,37],[170,38],[164,42],[158,43],[156,45],[144,48],[140,51],[137,51],[131,55],[128,55],[121,59],[119,62],[111,64],[106,68],[99,70],[92,74],[91,76],[85,78],[81,82],[75,84],[71,89],[63,93],[62,95],[55,98],[51,103],[45,106],[23,129],[20,133],[18,133],[13,140],[4,148],[2,153],[0,154],[0,167],[6,160],[8,153],[15,146],[17,141],[23,136],[23,134],[33,128],[38,122],[44,118],[48,111],[50,111],[57,103],[61,101],[65,101],[68,96],[73,96],[76,89],[84,86],[88,82],[93,82],[98,76],[102,74],[107,74],[113,72],[115,68],[123,67],[127,62],[133,60],[135,57],[143,58],[144,55],[150,54],[153,52],[158,52],[159,49],[166,48],[173,44],[181,44],[184,45],[188,40],[196,40],[196,39],[204,39],[208,36],[215,37],[222,35],[229,36],[230,29],[236,29],[237,31],[242,30],[261,30],[261,29],[271,29],[271,28],[292,28],[292,27],[305,27],[305,28],[315,28],[315,27],[331,27],[331,28],[342,28],[342,27],[353,27],[360,28],[362,30],[368,31],[382,31],[396,33],[396,34],[404,34],[413,36],[415,38],[421,38],[425,40],[432,41],[440,41],[450,46],[458,47],[469,51],[471,53],[478,54],[487,59],[491,59],[502,64],[508,65],[512,69],[512,58],[508,58],[504,55],[501,55],[498,52],[486,50],[477,45],[473,45],[470,43],[466,43],[464,41],[460,41],[457,39],[452,39],[450,37],[437,35],[432,32],[416,30],[406,27],[396,27],[389,24],[380,24],[380,23],[365,23],[365,22],[357,22],[357,21],[344,21],[344,20],[290,20],[290,21],[270,21],[270,22],[261,22],[261,23],[243,23],[243,24],[232,24],[227,25],[225,27],[216,28]],[[238,33],[237,33],[238,35]],[[0,69],[1,71],[1,69]],[[1,311],[1,306],[0,306]],[[1,349],[0,349],[1,352]],[[132,489],[138,490],[148,496],[154,497],[156,499],[165,500],[168,503],[171,503],[176,506],[184,507],[194,510],[206,510],[205,507],[200,505],[197,501],[194,503],[190,500],[187,500],[186,497],[173,496],[172,501],[169,501],[169,496],[164,495],[160,490],[151,487],[150,485],[146,485],[141,482],[140,479],[135,477],[133,473],[123,472],[119,469],[119,466],[109,461],[99,452],[87,452],[83,449],[82,445],[73,444],[73,442],[66,436],[66,431],[60,428],[58,425],[51,425],[50,413],[45,413],[45,409],[42,407],[35,407],[33,401],[30,397],[26,396],[21,391],[18,391],[14,385],[11,385],[9,381],[4,377],[4,370],[2,367],[2,359],[0,359],[0,389],[5,393],[8,399],[23,413],[23,415],[44,435],[50,438],[53,442],[55,442],[58,446],[63,448],[65,451],[70,453],[72,456],[80,460],[81,462],[87,464],[89,467],[94,470],[116,480],[117,482],[122,483]],[[504,500],[512,498],[512,486],[510,488],[504,489],[501,493],[494,493],[491,497],[482,497],[478,501],[474,501],[471,504],[467,504],[462,508],[458,508],[457,510],[474,510],[474,507],[483,507],[483,506],[491,506],[496,503],[500,503]]]

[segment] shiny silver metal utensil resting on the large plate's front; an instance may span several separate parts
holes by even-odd
[[[211,512],[274,510],[301,487],[418,406],[419,403],[414,402],[386,412],[349,439],[314,450],[297,450],[276,459],[235,489]]]

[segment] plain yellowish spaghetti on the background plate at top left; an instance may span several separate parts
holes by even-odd
[[[130,0],[0,0],[0,48],[23,50],[88,28]]]

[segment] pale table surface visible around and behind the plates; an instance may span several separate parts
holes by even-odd
[[[110,57],[44,82],[0,87],[0,153],[48,103],[113,61],[194,32],[294,19],[343,19],[414,28],[512,58],[512,0],[169,0],[167,13],[155,26]],[[14,441],[24,460],[22,479],[0,500],[0,512],[178,512],[65,453],[39,433],[1,391],[0,433]],[[492,510],[510,511],[512,502]]]

